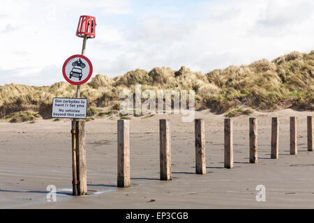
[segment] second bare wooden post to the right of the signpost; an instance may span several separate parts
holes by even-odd
[[[159,120],[160,132],[160,180],[171,180],[170,122]]]

